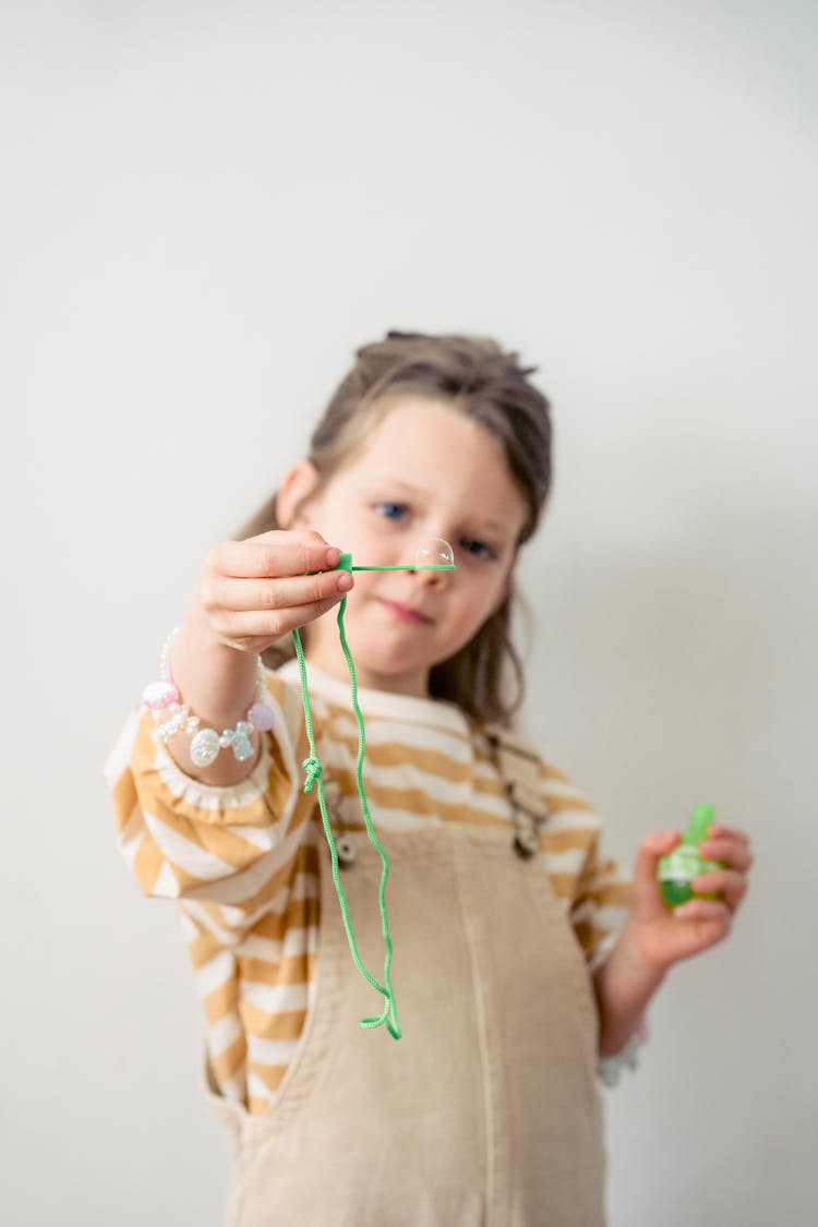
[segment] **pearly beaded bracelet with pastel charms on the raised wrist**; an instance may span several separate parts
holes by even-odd
[[[168,720],[156,728],[156,736],[167,746],[178,733],[190,735],[190,758],[196,767],[210,767],[216,761],[221,750],[228,747],[233,751],[237,762],[247,762],[255,753],[250,737],[254,730],[259,733],[272,728],[275,723],[273,710],[265,702],[266,675],[261,656],[258,658],[255,699],[250,703],[234,729],[224,729],[221,734],[216,729],[201,728],[201,719],[190,710],[182,698],[182,691],[170,676],[169,653],[170,640],[177,631],[172,631],[162,648],[159,656],[159,680],[150,682],[142,691],[142,702],[152,712],[167,712]]]

